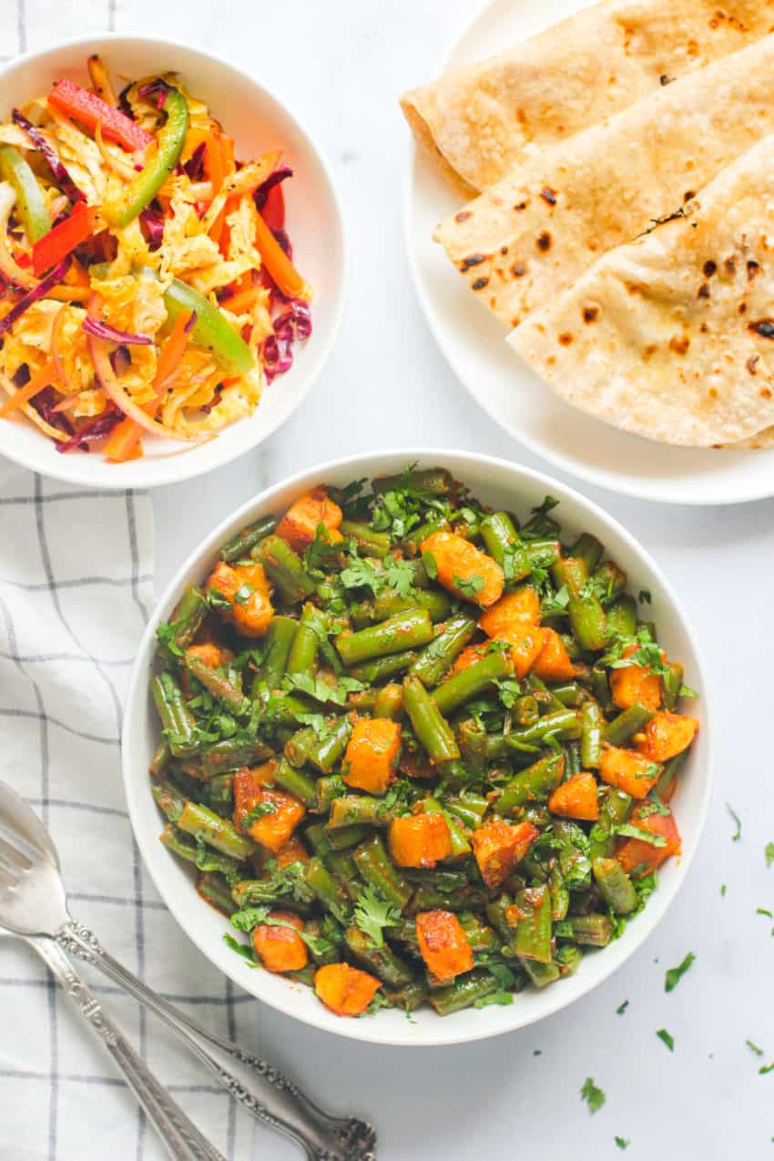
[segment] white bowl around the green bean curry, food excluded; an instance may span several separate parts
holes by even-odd
[[[232,533],[261,515],[283,512],[313,484],[341,485],[363,476],[399,471],[413,462],[418,462],[420,467],[441,464],[468,484],[483,503],[493,507],[514,509],[520,514],[540,504],[547,495],[560,500],[557,517],[566,534],[572,536],[588,531],[599,536],[606,555],[628,574],[630,587],[635,592],[638,589],[650,589],[659,640],[670,656],[683,662],[686,680],[701,693],[700,700],[690,711],[700,719],[701,729],[680,776],[674,799],[682,835],[681,857],[671,859],[665,865],[658,889],[651,895],[645,910],[628,925],[623,936],[608,947],[584,956],[576,975],[540,991],[528,989],[518,995],[509,1007],[470,1009],[443,1018],[431,1009],[420,1009],[414,1012],[411,1023],[403,1012],[388,1009],[372,1018],[342,1019],[324,1008],[310,988],[272,975],[262,968],[251,968],[227,947],[223,942],[223,933],[230,930],[227,921],[198,897],[190,868],[159,842],[162,820],[151,794],[147,773],[149,762],[159,738],[159,723],[149,695],[149,682],[155,652],[157,625],[168,618],[187,584],[204,578],[216,560],[219,546]],[[408,448],[350,456],[294,476],[244,504],[214,529],[167,586],[140,642],[126,699],[122,752],[129,814],[145,865],[165,903],[200,951],[246,991],[314,1027],[372,1044],[437,1045],[476,1040],[523,1027],[578,1000],[621,967],[665,915],[695,853],[710,796],[707,698],[707,680],[695,639],[666,577],[616,520],[579,492],[529,468],[464,452]]]

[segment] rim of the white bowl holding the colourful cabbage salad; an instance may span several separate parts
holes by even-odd
[[[347,235],[347,226],[345,224],[346,215],[343,212],[343,204],[341,201],[341,196],[339,194],[339,190],[337,188],[333,178],[333,167],[328,160],[327,152],[311,136],[304,122],[301,120],[301,117],[296,113],[291,103],[285,101],[283,98],[277,96],[274,89],[269,88],[262,81],[256,80],[252,75],[252,73],[247,72],[247,70],[234,64],[229,57],[220,56],[216,52],[208,52],[207,49],[202,49],[197,44],[194,44],[191,41],[185,39],[182,37],[172,39],[168,36],[146,36],[144,33],[133,31],[130,29],[130,30],[122,30],[120,33],[103,33],[101,35],[92,34],[89,36],[68,36],[65,37],[64,39],[52,41],[50,44],[46,44],[37,49],[30,49],[28,52],[21,52],[19,53],[19,56],[12,57],[9,60],[3,62],[2,65],[0,66],[0,77],[5,75],[8,72],[13,72],[17,68],[23,68],[31,62],[38,60],[42,57],[46,57],[49,56],[49,53],[57,52],[60,49],[72,49],[72,48],[78,48],[79,45],[84,46],[104,45],[106,42],[115,43],[120,41],[133,41],[140,43],[146,42],[153,44],[154,46],[160,45],[161,48],[168,45],[169,49],[173,50],[185,49],[187,52],[193,52],[198,57],[202,57],[207,60],[211,60],[217,65],[222,65],[231,70],[231,72],[236,73],[245,81],[253,85],[270,101],[274,101],[274,103],[279,106],[283,110],[283,113],[287,114],[287,116],[296,125],[296,129],[298,130],[298,134],[303,138],[305,146],[319,163],[319,166],[325,175],[325,180],[331,195],[331,201],[335,209],[335,216],[339,225],[339,233],[341,237],[341,284],[327,338],[324,340],[321,348],[318,348],[317,370],[308,376],[306,385],[303,388],[296,405],[291,408],[287,414],[279,417],[270,426],[266,428],[266,431],[262,431],[260,433],[260,439],[258,439],[255,442],[248,444],[246,447],[237,448],[234,450],[226,450],[220,459],[216,460],[212,463],[207,464],[205,467],[198,467],[196,464],[195,448],[191,448],[190,452],[187,454],[171,453],[168,455],[167,470],[165,471],[162,469],[154,469],[157,478],[153,478],[151,481],[143,477],[142,468],[139,469],[132,468],[132,470],[129,470],[128,466],[123,466],[126,467],[126,471],[125,474],[122,473],[121,479],[111,481],[109,477],[106,479],[86,479],[79,476],[77,470],[63,471],[58,467],[59,462],[58,459],[52,460],[51,468],[46,466],[45,469],[43,468],[30,469],[39,473],[43,476],[48,476],[51,479],[58,479],[63,483],[78,484],[82,488],[94,488],[99,490],[104,489],[109,491],[124,491],[125,489],[129,488],[140,488],[140,489],[164,488],[166,484],[178,484],[182,483],[186,479],[193,479],[196,476],[204,476],[210,471],[217,471],[218,468],[224,468],[226,464],[233,463],[234,460],[238,460],[243,455],[248,455],[249,452],[254,452],[256,447],[260,447],[261,444],[265,444],[267,439],[270,439],[270,437],[274,435],[275,432],[277,432],[290,419],[290,417],[295,414],[296,411],[298,411],[301,406],[303,406],[304,402],[306,401],[306,397],[309,396],[309,392],[317,384],[319,376],[321,375],[325,365],[328,361],[331,352],[341,332],[341,324],[343,322],[343,315],[349,298],[349,279],[352,273],[350,247]],[[253,414],[256,414],[259,409],[260,409],[260,403],[255,412],[253,412]],[[252,418],[251,416],[246,416],[244,417],[244,419],[238,420],[238,423],[245,423],[251,418]],[[224,431],[227,431],[227,428],[224,428]],[[24,459],[24,456],[15,455],[13,450],[3,448],[2,455],[6,459],[10,460],[13,463],[19,463],[22,468],[30,468],[30,464]],[[142,464],[143,461],[140,459],[133,462],[137,464]],[[158,460],[155,462],[158,463]]]

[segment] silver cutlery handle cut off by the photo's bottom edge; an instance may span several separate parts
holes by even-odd
[[[48,937],[29,937],[24,942],[48,964],[84,1019],[101,1038],[169,1155],[175,1161],[225,1161],[104,1015],[62,949]]]

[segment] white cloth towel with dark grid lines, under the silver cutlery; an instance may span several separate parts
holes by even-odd
[[[153,600],[152,539],[146,495],[75,490],[0,461],[0,779],[50,829],[74,916],[151,987],[233,1038],[236,1011],[244,1005],[241,1023],[255,1005],[234,996],[164,908],[121,783],[123,697]],[[85,974],[214,1144],[252,1156],[256,1123],[154,1017]],[[162,1156],[111,1058],[42,961],[0,938],[2,1161]]]

